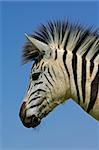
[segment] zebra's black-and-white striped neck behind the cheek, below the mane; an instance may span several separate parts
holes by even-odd
[[[67,51],[65,63],[70,75],[70,97],[99,120],[99,63],[96,59],[92,69],[90,60],[91,56],[83,59],[81,55]]]

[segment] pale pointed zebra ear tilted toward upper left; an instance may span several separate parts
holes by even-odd
[[[37,49],[40,51],[40,52],[47,52],[49,50],[49,47],[47,44],[31,37],[31,36],[28,36],[26,33],[25,33],[25,36],[27,37],[27,39],[35,46],[37,47]]]

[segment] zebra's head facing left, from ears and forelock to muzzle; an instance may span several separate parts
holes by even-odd
[[[24,126],[36,127],[57,105],[70,96],[69,80],[64,69],[64,49],[59,25],[42,26],[40,33],[27,35],[24,61],[33,60],[30,82],[20,109]],[[60,25],[61,27],[61,25]],[[54,32],[54,33],[53,33]],[[55,36],[53,36],[55,34]]]

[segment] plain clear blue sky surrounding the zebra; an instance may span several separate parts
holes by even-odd
[[[73,101],[57,107],[36,129],[25,128],[18,113],[31,68],[21,65],[24,33],[64,18],[98,27],[99,2],[0,2],[0,8],[0,149],[98,150],[99,123]]]

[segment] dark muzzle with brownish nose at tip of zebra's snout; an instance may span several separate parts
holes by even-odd
[[[41,122],[40,118],[36,117],[35,115],[26,117],[26,102],[23,102],[20,112],[19,112],[19,116],[20,119],[23,123],[23,125],[27,128],[35,128],[36,126],[38,126]]]

